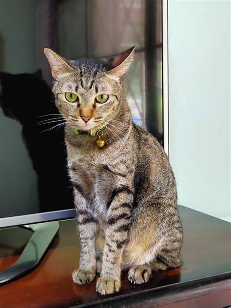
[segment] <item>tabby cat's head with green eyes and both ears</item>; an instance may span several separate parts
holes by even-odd
[[[100,128],[130,108],[123,98],[122,77],[135,47],[109,58],[68,60],[45,48],[54,78],[59,112],[80,130]]]

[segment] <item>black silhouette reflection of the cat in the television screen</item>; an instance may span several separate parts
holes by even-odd
[[[70,209],[73,203],[63,128],[51,129],[61,123],[53,122],[60,119],[53,101],[40,69],[35,74],[0,72],[0,107],[5,116],[22,125],[22,140],[38,177],[41,212]]]

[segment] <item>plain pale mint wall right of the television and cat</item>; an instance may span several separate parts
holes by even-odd
[[[169,0],[170,160],[178,203],[216,217],[230,201],[231,2]]]

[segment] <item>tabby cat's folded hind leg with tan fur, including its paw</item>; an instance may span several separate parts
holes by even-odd
[[[147,282],[152,270],[180,266],[182,229],[176,206],[161,200],[146,200],[136,210],[129,241],[123,254],[128,279]]]

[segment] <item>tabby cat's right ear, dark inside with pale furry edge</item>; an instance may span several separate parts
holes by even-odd
[[[107,75],[115,80],[120,80],[126,73],[131,65],[134,57],[135,46],[125,50],[119,55],[112,56],[106,59],[108,67]]]

